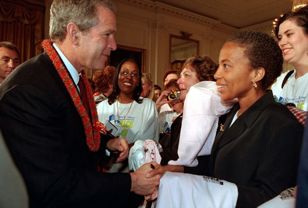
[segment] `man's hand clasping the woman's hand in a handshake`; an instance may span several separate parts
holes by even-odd
[[[156,162],[151,162],[155,167],[158,167],[159,164]],[[136,172],[130,173],[131,177],[131,188],[130,191],[139,195],[150,195],[155,190],[158,189],[159,180],[162,177],[161,175],[156,175],[155,177],[147,178],[145,175],[152,170],[150,164],[145,163],[140,167]]]

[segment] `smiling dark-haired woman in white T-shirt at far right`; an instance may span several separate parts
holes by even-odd
[[[308,6],[278,17],[275,36],[283,52],[283,59],[295,70],[287,71],[272,86],[273,94],[283,104],[294,103],[308,110]]]

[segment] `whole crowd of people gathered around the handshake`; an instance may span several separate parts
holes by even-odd
[[[54,0],[42,54],[20,65],[0,42],[1,207],[308,203],[308,6],[279,16],[276,39],[232,34],[219,65],[166,70],[163,89],[136,60],[105,67],[116,31],[108,0]]]

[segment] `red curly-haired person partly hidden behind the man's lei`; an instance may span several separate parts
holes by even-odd
[[[112,92],[112,79],[115,72],[115,67],[107,66],[103,70],[98,70],[93,75],[93,81],[95,86],[94,100],[98,106],[99,103],[105,99]]]

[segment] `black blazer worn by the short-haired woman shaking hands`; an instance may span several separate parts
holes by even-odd
[[[230,126],[229,112],[214,141],[204,175],[238,186],[238,207],[257,207],[296,185],[302,125],[268,91]],[[197,169],[196,168],[196,169]],[[200,171],[200,170],[199,170]],[[185,169],[194,173],[194,169]]]

